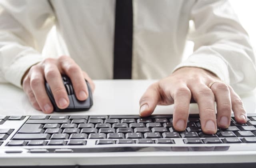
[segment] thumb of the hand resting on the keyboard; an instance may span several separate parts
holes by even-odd
[[[159,99],[158,83],[152,84],[140,98],[140,116],[150,116],[154,112]]]

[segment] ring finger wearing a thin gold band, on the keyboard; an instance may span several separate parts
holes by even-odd
[[[232,112],[229,88],[222,82],[215,82],[211,90],[217,103],[217,126],[228,128]]]

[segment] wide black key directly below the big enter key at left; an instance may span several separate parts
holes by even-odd
[[[16,134],[13,140],[48,140],[50,134]]]

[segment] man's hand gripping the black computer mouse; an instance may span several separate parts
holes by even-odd
[[[94,90],[92,80],[72,58],[68,56],[61,56],[58,59],[46,58],[32,66],[22,81],[23,90],[34,108],[42,110],[44,113],[53,111],[52,103],[45,90],[45,79],[50,85],[57,106],[61,109],[68,107],[68,94],[62,82],[61,74],[67,74],[70,77],[78,100],[86,100],[88,97],[88,89],[84,79],[90,83],[92,91]]]

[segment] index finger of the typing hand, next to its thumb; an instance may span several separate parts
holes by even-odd
[[[171,93],[171,92],[170,92]],[[176,131],[184,131],[187,126],[189,115],[189,104],[191,99],[191,92],[187,86],[174,89],[174,112],[173,125]]]

